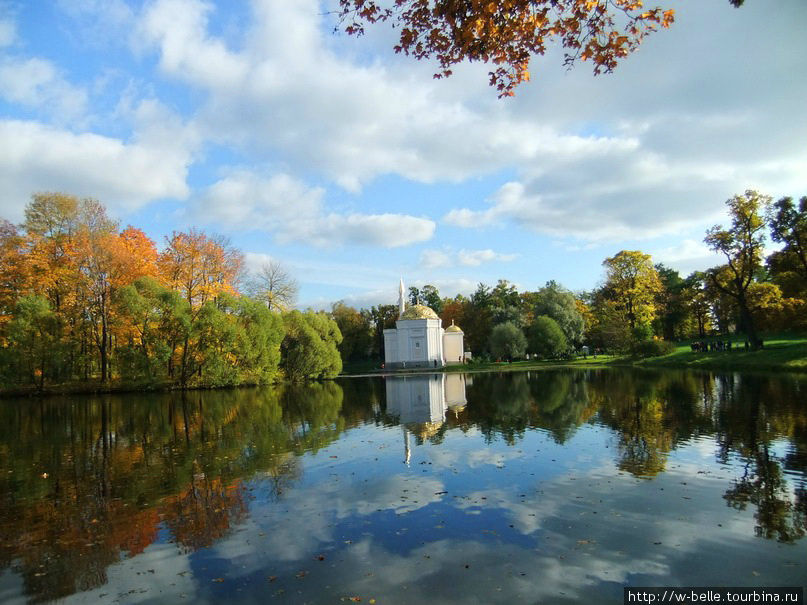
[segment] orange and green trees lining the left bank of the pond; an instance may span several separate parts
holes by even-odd
[[[338,374],[336,323],[277,312],[271,291],[244,296],[244,277],[243,254],[226,238],[175,232],[158,251],[95,200],[36,194],[21,225],[0,220],[0,386],[187,388]]]

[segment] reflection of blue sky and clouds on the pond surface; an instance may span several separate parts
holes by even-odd
[[[453,429],[411,445],[407,465],[400,426],[347,430],[301,456],[279,498],[253,477],[248,516],[210,548],[153,544],[68,602],[621,603],[624,585],[807,580],[807,540],[756,538],[755,508],[727,506],[740,463],[718,464],[710,437],[679,443],[653,479],[620,471],[594,423],[563,444]],[[21,589],[0,575],[0,597]]]

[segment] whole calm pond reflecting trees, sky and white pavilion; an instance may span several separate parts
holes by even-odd
[[[807,583],[807,379],[557,370],[0,402],[0,602]]]

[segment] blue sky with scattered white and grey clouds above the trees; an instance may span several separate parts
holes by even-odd
[[[807,193],[807,3],[669,0],[614,74],[551,50],[500,100],[335,0],[0,0],[0,217],[35,191],[101,200],[158,246],[197,226],[299,305],[394,303],[499,278],[589,289],[641,249],[686,274],[748,188]],[[651,3],[653,4],[653,3]],[[775,8],[774,8],[775,7]]]

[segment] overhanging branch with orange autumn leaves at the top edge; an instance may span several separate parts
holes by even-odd
[[[400,31],[395,52],[436,58],[435,78],[465,60],[493,64],[490,85],[502,97],[530,79],[530,59],[550,44],[563,47],[565,65],[591,60],[595,74],[608,73],[646,35],[672,24],[674,12],[641,0],[339,0],[339,17],[352,35],[391,22]]]

